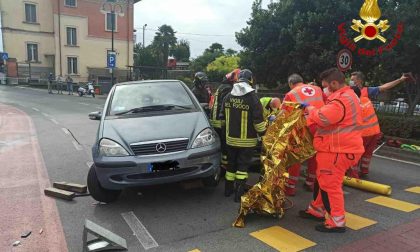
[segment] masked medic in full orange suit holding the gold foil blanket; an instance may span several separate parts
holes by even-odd
[[[359,130],[362,123],[361,107],[340,70],[326,70],[321,74],[321,79],[333,93],[321,108],[306,107],[309,120],[317,125],[313,144],[318,165],[315,189],[317,185],[319,189],[308,208],[299,211],[299,215],[302,218],[325,220],[324,224],[315,227],[317,231],[343,233],[346,231],[343,176],[349,167],[357,164],[364,152]]]

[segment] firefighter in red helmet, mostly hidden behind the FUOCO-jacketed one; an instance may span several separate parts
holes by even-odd
[[[238,81],[240,69],[235,69],[223,77],[222,85],[220,85],[214,94],[214,104],[210,112],[210,124],[214,130],[219,134],[222,145],[222,167],[226,169],[227,153],[226,153],[226,134],[222,132],[222,120],[220,119],[220,112],[222,109],[223,99],[232,91],[233,84]]]

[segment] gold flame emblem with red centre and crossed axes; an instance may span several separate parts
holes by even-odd
[[[379,9],[378,0],[365,0],[359,15],[365,23],[362,23],[361,20],[353,19],[351,28],[360,33],[359,36],[354,38],[354,42],[358,42],[361,39],[379,39],[382,43],[385,43],[386,38],[384,38],[381,33],[388,30],[390,25],[388,24],[388,20],[379,20],[382,13]],[[375,23],[377,20],[379,20],[378,24]]]

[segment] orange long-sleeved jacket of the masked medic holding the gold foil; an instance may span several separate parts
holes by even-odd
[[[309,118],[317,125],[315,150],[333,153],[364,153],[361,130],[362,109],[350,87],[343,87],[328,97],[320,109],[310,111]]]

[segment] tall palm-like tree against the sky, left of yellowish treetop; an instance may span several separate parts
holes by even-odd
[[[162,25],[159,27],[153,39],[152,46],[155,53],[159,57],[161,66],[166,66],[168,63],[169,48],[176,44],[175,32],[169,25]]]

